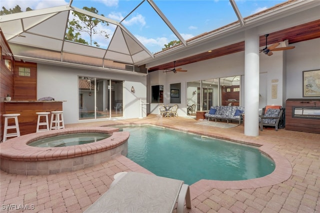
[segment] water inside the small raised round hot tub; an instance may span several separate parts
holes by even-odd
[[[27,145],[32,147],[66,147],[93,143],[110,136],[110,134],[98,132],[71,133],[42,138]]]

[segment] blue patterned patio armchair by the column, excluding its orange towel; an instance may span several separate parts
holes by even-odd
[[[262,114],[265,109],[262,110]],[[282,110],[268,108],[263,115],[259,116],[260,131],[263,130],[263,126],[274,127],[275,131],[278,131],[279,121],[282,118]]]

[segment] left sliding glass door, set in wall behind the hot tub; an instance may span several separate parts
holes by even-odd
[[[123,116],[123,81],[78,77],[79,120]]]

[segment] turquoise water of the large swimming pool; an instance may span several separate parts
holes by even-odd
[[[151,125],[121,126],[120,131],[130,132],[127,158],[157,176],[188,185],[201,179],[254,179],[275,168],[271,159],[249,145]]]

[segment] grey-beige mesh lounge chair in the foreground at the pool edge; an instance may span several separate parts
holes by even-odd
[[[177,202],[177,213],[183,213],[184,199],[191,208],[189,186],[183,181],[136,172],[114,176],[110,189],[85,213],[171,213]]]

